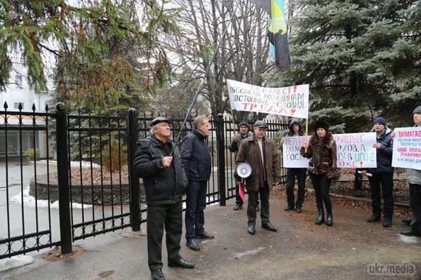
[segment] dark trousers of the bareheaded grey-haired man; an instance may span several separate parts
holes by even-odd
[[[206,187],[208,181],[189,181],[186,200],[186,239],[205,231]]]

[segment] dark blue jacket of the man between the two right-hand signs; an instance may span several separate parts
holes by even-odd
[[[374,130],[372,130],[375,132]],[[393,141],[392,130],[386,126],[385,132],[377,137],[377,143],[382,144],[380,149],[376,149],[377,168],[367,168],[368,173],[393,173],[392,154]]]

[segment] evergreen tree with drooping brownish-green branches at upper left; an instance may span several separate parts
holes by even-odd
[[[176,13],[155,0],[71,3],[0,0],[0,86],[14,53],[35,91],[46,89],[47,60],[55,60],[58,95],[94,112],[112,112],[121,98],[136,104],[163,86],[171,67],[160,39],[178,34]]]

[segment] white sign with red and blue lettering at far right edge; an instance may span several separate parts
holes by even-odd
[[[395,129],[392,166],[421,170],[421,127]]]

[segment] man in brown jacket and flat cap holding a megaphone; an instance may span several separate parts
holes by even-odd
[[[260,194],[260,218],[262,228],[276,232],[277,229],[269,221],[269,192],[272,185],[278,185],[281,180],[279,154],[272,139],[265,137],[267,125],[265,121],[256,121],[254,133],[241,141],[235,164],[243,162],[250,164],[251,175],[246,178],[248,192],[247,218],[249,234],[255,234],[256,206]],[[235,174],[237,184],[241,178]],[[270,189],[269,189],[270,188]]]

